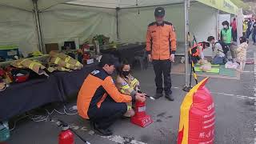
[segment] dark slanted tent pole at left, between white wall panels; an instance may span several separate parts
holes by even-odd
[[[39,46],[39,50],[42,53],[45,53],[42,45],[42,33],[41,33],[41,26],[40,26],[40,20],[38,15],[38,0],[32,0],[32,1],[34,3],[34,18],[35,18],[37,32],[38,32],[38,46]]]

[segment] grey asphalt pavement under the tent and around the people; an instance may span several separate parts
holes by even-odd
[[[256,46],[251,46],[248,58],[254,58]],[[256,68],[255,68],[256,69]],[[246,65],[246,73],[241,80],[210,78],[206,85],[212,92],[216,110],[215,142],[217,144],[255,144],[256,110],[254,65]],[[154,71],[134,70],[134,76],[142,83],[142,90],[154,94]],[[134,126],[128,119],[114,124],[114,136],[101,137],[90,130],[88,122],[78,115],[54,113],[51,118],[61,118],[70,122],[83,138],[93,144],[174,144],[178,134],[179,106],[186,94],[183,92],[184,75],[172,75],[174,102],[166,98],[147,101],[147,112],[154,123],[146,128]],[[200,78],[202,79],[202,78]],[[69,106],[74,106],[70,102]],[[60,111],[62,109],[59,109]],[[31,122],[28,119],[18,122],[11,132],[10,144],[54,144],[58,143],[60,129],[55,122]],[[76,144],[82,144],[78,138]]]

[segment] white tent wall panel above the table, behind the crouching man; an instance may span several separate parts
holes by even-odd
[[[42,13],[42,34],[45,43],[74,41],[84,42],[95,34],[116,39],[115,10],[94,9],[86,6],[55,6]]]

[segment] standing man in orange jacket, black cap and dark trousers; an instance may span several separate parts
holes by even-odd
[[[155,98],[162,97],[164,90],[166,98],[174,101],[174,97],[171,95],[170,67],[171,62],[174,62],[176,34],[172,23],[164,21],[164,8],[156,8],[154,17],[156,22],[150,23],[147,29],[146,52],[154,66],[155,84],[157,86]],[[164,88],[162,86],[162,74]]]

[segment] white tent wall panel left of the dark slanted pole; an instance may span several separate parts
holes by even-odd
[[[38,50],[34,15],[6,6],[0,10],[0,45],[16,44],[25,53]]]

